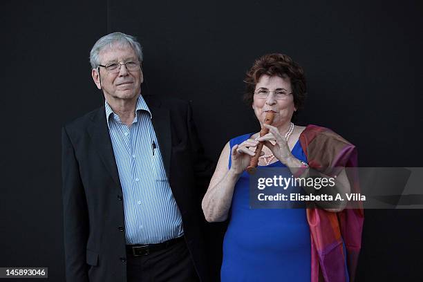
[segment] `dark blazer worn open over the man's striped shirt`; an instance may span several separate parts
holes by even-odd
[[[213,167],[203,155],[189,103],[155,96],[144,100],[185,241],[200,278],[207,281],[200,200]],[[64,126],[62,178],[67,281],[126,281],[122,187],[104,106]]]

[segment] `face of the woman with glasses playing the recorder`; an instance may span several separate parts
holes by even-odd
[[[265,93],[266,91],[270,91],[267,97],[265,97],[265,94],[263,95],[263,92]],[[276,93],[290,93],[290,95],[277,95],[274,91]],[[260,95],[257,94],[259,92],[261,92]],[[289,123],[292,114],[297,111],[294,106],[290,78],[282,78],[277,75],[262,75],[256,84],[252,108],[260,124],[263,124],[268,111],[275,113],[273,126],[279,127]]]

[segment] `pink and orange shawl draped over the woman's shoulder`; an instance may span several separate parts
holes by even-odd
[[[312,169],[329,174],[328,170],[335,167],[357,167],[355,146],[330,129],[308,125],[299,141]],[[347,176],[351,192],[358,193],[357,175],[347,173]],[[307,209],[307,220],[311,234],[311,281],[342,282],[349,278],[353,282],[361,247],[363,209],[337,213]]]

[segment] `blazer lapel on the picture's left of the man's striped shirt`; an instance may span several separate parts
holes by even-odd
[[[95,144],[94,147],[102,159],[104,166],[106,167],[107,171],[109,171],[111,177],[122,191],[122,187],[120,186],[118,167],[116,166],[115,161],[115,153],[113,152],[113,146],[111,144],[109,135],[109,128],[107,127],[104,106],[102,106],[93,114],[91,121],[92,122],[90,126],[88,126],[88,134],[93,140],[93,144]]]

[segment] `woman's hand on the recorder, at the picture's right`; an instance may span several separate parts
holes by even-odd
[[[263,126],[269,129],[269,133],[257,138],[257,140],[264,141],[265,147],[272,151],[274,157],[283,164],[287,164],[288,159],[292,158],[292,153],[290,147],[288,147],[288,142],[285,140],[285,136],[281,135],[279,130],[272,125],[263,124]],[[272,144],[270,141],[274,141],[275,144]]]

